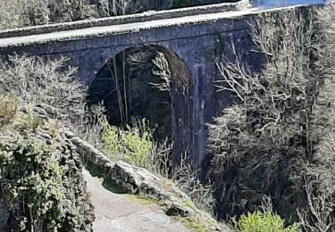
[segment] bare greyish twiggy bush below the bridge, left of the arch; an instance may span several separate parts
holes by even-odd
[[[77,122],[85,113],[87,87],[67,61],[10,56],[9,62],[0,62],[0,94],[16,95],[23,105],[38,105],[48,118],[64,124]]]

